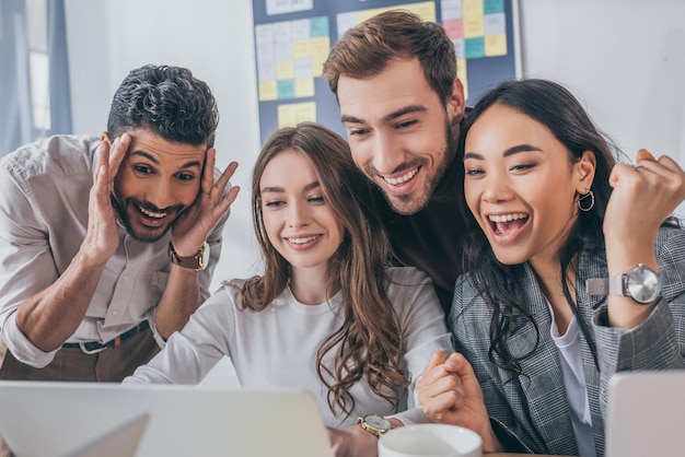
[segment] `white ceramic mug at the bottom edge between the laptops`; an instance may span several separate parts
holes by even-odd
[[[379,457],[481,457],[480,435],[448,424],[399,426],[379,440]]]

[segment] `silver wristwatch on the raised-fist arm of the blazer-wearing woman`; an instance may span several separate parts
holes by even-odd
[[[641,305],[653,303],[661,295],[661,277],[652,268],[638,263],[627,273],[585,281],[588,295],[629,296]]]

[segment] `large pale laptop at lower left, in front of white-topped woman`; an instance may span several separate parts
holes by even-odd
[[[316,401],[300,390],[0,382],[0,435],[16,457],[106,455],[88,452],[124,448],[138,432],[130,457],[333,456]]]

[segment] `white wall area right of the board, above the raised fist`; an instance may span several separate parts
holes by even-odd
[[[685,1],[521,0],[523,70],[562,82],[631,159],[685,164]]]

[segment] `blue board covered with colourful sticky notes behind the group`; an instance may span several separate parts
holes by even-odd
[[[323,63],[347,30],[392,9],[444,26],[467,106],[498,82],[520,78],[518,0],[253,0],[262,144],[305,120],[345,136]]]

